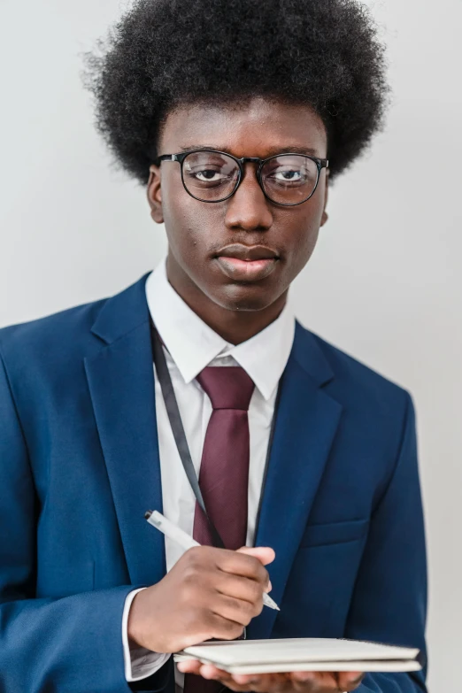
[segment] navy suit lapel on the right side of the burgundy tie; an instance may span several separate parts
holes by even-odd
[[[276,553],[267,568],[273,585],[271,596],[278,604],[342,412],[342,405],[321,389],[332,377],[315,337],[297,325],[294,347],[281,381],[281,399],[255,537],[256,546],[272,546]],[[265,607],[250,622],[248,637],[269,637],[276,614]]]

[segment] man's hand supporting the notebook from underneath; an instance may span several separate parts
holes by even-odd
[[[178,663],[181,672],[200,674],[220,681],[228,689],[258,693],[350,693],[358,688],[364,674],[358,672],[288,672],[287,674],[228,674],[196,659]]]

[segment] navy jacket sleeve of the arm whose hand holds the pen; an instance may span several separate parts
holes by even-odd
[[[129,693],[121,623],[133,585],[35,598],[37,510],[0,356],[0,693]],[[150,677],[150,690],[165,688],[170,668]]]

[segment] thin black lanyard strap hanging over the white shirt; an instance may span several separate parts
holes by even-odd
[[[178,408],[178,403],[176,401],[175,393],[173,391],[172,378],[170,377],[170,373],[169,373],[168,366],[166,363],[166,355],[164,353],[164,349],[163,349],[160,337],[158,335],[158,331],[157,331],[156,327],[154,327],[154,323],[152,322],[152,320],[150,320],[150,337],[151,337],[151,344],[152,344],[152,358],[154,361],[154,365],[156,366],[156,373],[158,375],[158,381],[160,383],[160,389],[162,390],[162,396],[164,397],[164,402],[166,404],[166,412],[168,415],[168,419],[170,421],[170,426],[172,427],[173,437],[175,439],[176,447],[178,448],[178,452],[179,452],[179,455],[181,458],[181,463],[182,463],[182,465],[184,467],[184,471],[188,477],[189,483],[191,485],[191,489],[193,489],[193,491],[194,491],[194,495],[196,496],[197,503],[201,507],[202,511],[204,512],[205,517],[207,518],[207,520],[209,522],[209,526],[210,526],[211,533],[212,533],[213,545],[216,548],[224,549],[225,545],[223,543],[223,540],[221,539],[218,530],[213,525],[213,522],[210,519],[210,516],[209,516],[209,514],[205,508],[204,498],[202,496],[201,489],[199,487],[199,482],[197,481],[196,470],[194,468],[194,465],[193,465],[193,462],[191,459],[191,454],[189,452],[189,445],[188,445],[188,442],[186,440],[183,422],[181,421],[180,410]],[[278,387],[278,392],[276,395],[276,402],[274,404],[273,420],[271,422],[268,448],[266,451],[265,471],[263,474],[263,483],[262,483],[262,488],[261,488],[261,492],[260,492],[260,499],[259,499],[259,503],[258,503],[257,521],[255,524],[255,535],[257,535],[258,520],[259,520],[259,516],[260,516],[260,511],[261,511],[261,503],[262,503],[262,499],[263,499],[263,489],[265,488],[266,474],[267,474],[267,470],[268,470],[268,462],[269,462],[269,458],[271,455],[271,448],[273,446],[274,425],[275,425],[275,421],[276,421],[276,414],[278,411],[278,405],[279,405],[280,397],[281,397],[281,381],[280,381],[280,384]],[[255,541],[254,541],[254,543],[255,543]]]

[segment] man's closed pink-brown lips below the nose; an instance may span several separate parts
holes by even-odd
[[[219,250],[216,256],[219,268],[235,281],[261,281],[275,269],[279,256],[265,245],[235,243]]]

